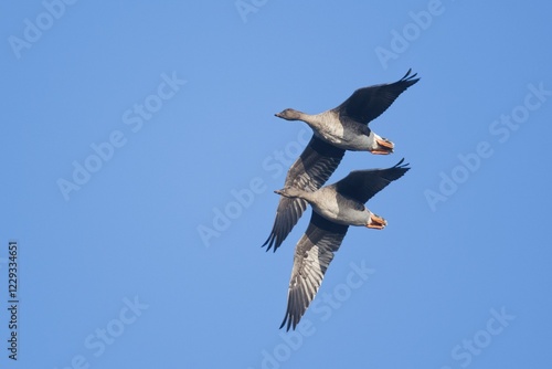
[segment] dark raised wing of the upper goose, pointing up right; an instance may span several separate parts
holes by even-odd
[[[406,72],[401,80],[357,89],[348,99],[336,107],[340,115],[347,115],[365,124],[378,118],[406,88],[420,81],[416,73]]]

